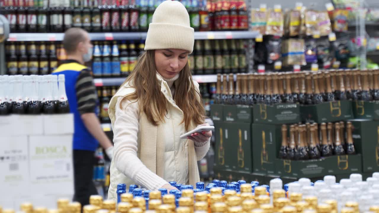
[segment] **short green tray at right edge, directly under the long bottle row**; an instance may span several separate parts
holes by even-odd
[[[354,100],[351,103],[355,119],[379,120],[379,101]]]

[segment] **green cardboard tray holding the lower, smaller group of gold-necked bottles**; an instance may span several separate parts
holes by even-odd
[[[316,160],[275,159],[276,172],[280,177],[324,177],[362,172],[361,155],[339,155]]]

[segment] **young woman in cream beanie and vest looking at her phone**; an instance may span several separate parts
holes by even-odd
[[[208,125],[188,66],[193,44],[194,29],[182,3],[161,3],[147,31],[146,51],[108,106],[114,133],[109,198],[117,197],[118,183],[173,190],[169,181],[199,181],[197,161],[207,153],[212,133],[180,139]]]

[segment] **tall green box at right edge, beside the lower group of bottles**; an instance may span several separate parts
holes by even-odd
[[[350,120],[357,153],[362,153],[363,172],[379,171],[379,121]]]

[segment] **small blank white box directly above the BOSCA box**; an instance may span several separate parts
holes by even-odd
[[[44,135],[62,135],[74,133],[74,114],[44,114]]]

